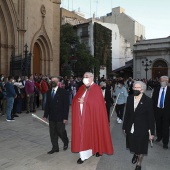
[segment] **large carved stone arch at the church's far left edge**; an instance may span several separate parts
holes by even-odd
[[[0,72],[9,75],[10,58],[17,44],[17,16],[12,0],[0,2]]]

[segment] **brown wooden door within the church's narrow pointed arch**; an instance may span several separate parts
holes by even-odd
[[[33,74],[40,75],[41,73],[41,48],[39,44],[36,42],[33,48]]]

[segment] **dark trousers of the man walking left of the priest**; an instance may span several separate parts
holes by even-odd
[[[65,130],[65,124],[63,122],[52,122],[49,121],[50,138],[53,150],[59,150],[58,137],[61,138],[64,145],[68,144],[67,132]]]

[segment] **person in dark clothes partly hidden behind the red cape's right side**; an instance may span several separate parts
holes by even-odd
[[[102,94],[105,100],[106,104],[106,109],[107,109],[107,116],[108,116],[108,121],[110,122],[110,107],[113,105],[113,99],[111,97],[111,91],[109,88],[106,87],[105,82],[100,83],[100,88],[102,89]]]

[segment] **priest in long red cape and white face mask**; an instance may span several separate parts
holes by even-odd
[[[112,155],[113,145],[106,105],[100,87],[90,72],[84,74],[83,83],[72,102],[71,151],[79,152],[78,164],[96,154]]]

